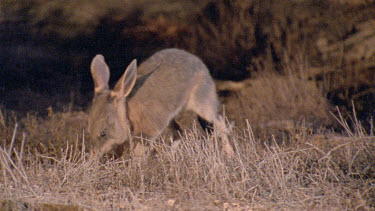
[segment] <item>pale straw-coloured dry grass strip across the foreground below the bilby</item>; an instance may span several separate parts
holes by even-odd
[[[289,146],[275,141],[262,144],[247,125],[230,135],[236,149],[232,159],[221,154],[216,137],[202,138],[198,130],[192,130],[183,134],[182,144],[174,150],[161,139],[153,143],[156,153],[104,164],[86,158],[84,137],[76,134],[67,140],[55,136],[58,131],[52,132],[55,144],[67,144],[53,153],[40,153],[38,147],[30,147],[28,135],[17,135],[19,127],[7,125],[10,121],[4,119],[0,199],[5,210],[343,210],[375,206],[375,138],[366,135],[360,123],[350,130],[339,116],[347,135],[301,129]],[[28,120],[27,124],[35,122]]]

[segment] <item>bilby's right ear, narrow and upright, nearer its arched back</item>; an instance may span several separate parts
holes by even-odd
[[[133,60],[126,68],[125,73],[116,83],[111,95],[113,97],[126,97],[130,94],[137,78],[137,60]]]

